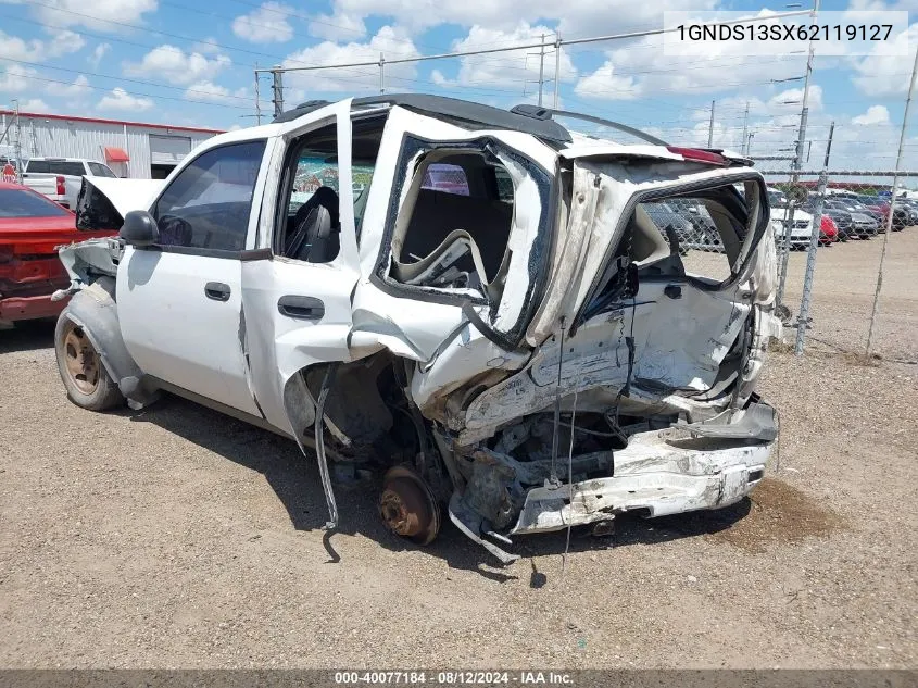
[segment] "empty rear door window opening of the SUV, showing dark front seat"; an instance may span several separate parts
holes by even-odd
[[[357,238],[385,116],[355,118],[352,125],[352,177]],[[339,220],[338,133],[328,125],[301,137],[286,162],[274,250],[278,255],[309,263],[329,263],[338,257]]]

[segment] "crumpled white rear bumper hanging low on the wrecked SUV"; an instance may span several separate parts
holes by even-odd
[[[775,441],[691,437],[678,427],[632,435],[615,452],[612,477],[529,490],[512,533],[550,533],[627,511],[664,516],[728,506],[762,480]]]

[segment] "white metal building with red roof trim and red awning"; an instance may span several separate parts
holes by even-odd
[[[8,129],[9,126],[9,129]],[[219,129],[100,120],[0,110],[4,151],[20,133],[22,158],[85,158],[106,163],[115,174],[135,179],[163,179],[198,143]]]

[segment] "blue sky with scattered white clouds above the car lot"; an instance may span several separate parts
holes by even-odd
[[[808,9],[808,3],[805,8]],[[918,10],[918,0],[823,0],[823,10]],[[784,11],[747,0],[0,0],[0,103],[24,110],[230,128],[254,123],[255,64],[315,65],[431,54],[662,26],[664,9]],[[910,15],[918,21],[918,13]],[[914,34],[914,35],[913,35]],[[918,38],[918,24],[903,39]],[[913,46],[918,41],[913,41]],[[684,143],[740,148],[749,103],[755,153],[792,145],[805,57],[706,60],[663,54],[659,37],[563,51],[567,109],[619,120]],[[914,49],[914,48],[913,48]],[[538,49],[395,64],[390,92],[411,90],[507,107],[533,101]],[[810,127],[815,161],[837,123],[833,166],[891,167],[911,60],[817,58]],[[545,60],[554,76],[554,54]],[[285,77],[288,105],[378,91],[376,66]],[[778,83],[775,83],[778,82]],[[269,77],[261,104],[271,112]],[[553,83],[545,84],[551,103]],[[918,153],[918,140],[909,141]],[[915,157],[918,166],[918,155]]]

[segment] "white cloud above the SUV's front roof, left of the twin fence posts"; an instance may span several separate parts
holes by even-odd
[[[293,52],[284,61],[284,66],[377,61],[379,53],[383,51],[389,59],[420,54],[414,43],[404,38],[404,34],[390,26],[383,26],[368,42],[341,45],[325,41]],[[411,80],[416,76],[417,67],[414,63],[386,65],[386,88],[390,91],[411,90]],[[294,100],[301,100],[305,92],[376,92],[379,88],[379,67],[288,72],[284,75],[284,85],[290,89],[288,105],[293,104]]]

